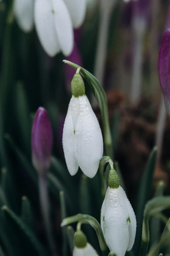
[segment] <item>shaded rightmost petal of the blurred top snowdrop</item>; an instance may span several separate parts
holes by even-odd
[[[85,19],[86,0],[64,0],[69,9],[74,28],[80,27]]]

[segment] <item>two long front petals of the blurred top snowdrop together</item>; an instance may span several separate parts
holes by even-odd
[[[73,28],[63,0],[36,0],[35,26],[44,51],[54,56],[60,50],[65,56],[73,49]]]

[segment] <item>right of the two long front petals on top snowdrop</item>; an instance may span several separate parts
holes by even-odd
[[[70,14],[63,0],[52,0],[52,2],[54,8],[55,30],[58,36],[60,49],[65,56],[69,56],[73,50],[73,28]]]

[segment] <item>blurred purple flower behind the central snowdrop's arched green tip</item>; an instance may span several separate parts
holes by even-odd
[[[82,67],[82,58],[80,56],[76,43],[74,43],[73,51],[71,55],[67,58],[67,60],[73,63],[76,63],[77,65]],[[67,82],[67,88],[70,92],[71,92],[71,80],[74,75],[75,75],[75,69],[72,68],[70,65],[66,65],[66,82]]]

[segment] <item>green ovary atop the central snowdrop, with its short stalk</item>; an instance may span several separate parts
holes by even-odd
[[[73,76],[71,81],[71,91],[75,98],[85,95],[85,84],[79,72],[80,68],[77,69],[76,74]]]

